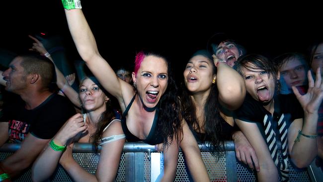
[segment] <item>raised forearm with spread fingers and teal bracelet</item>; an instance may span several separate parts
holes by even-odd
[[[301,95],[294,86],[292,88],[304,109],[304,121],[296,119],[288,129],[289,154],[294,164],[299,168],[309,166],[318,153],[318,111],[323,99],[320,69],[317,71],[315,83],[310,71],[308,78],[309,90],[305,95]]]

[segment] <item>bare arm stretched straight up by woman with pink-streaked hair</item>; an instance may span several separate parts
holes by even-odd
[[[94,36],[82,10],[65,9],[65,13],[72,38],[81,58],[104,89],[119,101],[122,100],[123,94],[130,93],[132,96],[134,94],[132,86],[118,79],[110,65],[99,54]]]

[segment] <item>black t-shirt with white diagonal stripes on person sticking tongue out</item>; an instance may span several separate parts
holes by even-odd
[[[289,180],[288,167],[288,139],[287,132],[290,124],[298,118],[304,117],[304,111],[294,94],[277,95],[274,97],[273,115],[267,111],[261,102],[254,100],[249,94],[242,106],[235,111],[236,119],[253,122],[265,140],[273,162],[280,172],[281,181]],[[279,148],[281,143],[281,160]]]

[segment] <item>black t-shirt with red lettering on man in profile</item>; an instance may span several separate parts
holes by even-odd
[[[4,108],[1,122],[9,124],[9,140],[20,143],[28,133],[37,138],[50,139],[63,124],[76,113],[72,103],[64,96],[53,93],[34,109],[25,109],[21,100]]]

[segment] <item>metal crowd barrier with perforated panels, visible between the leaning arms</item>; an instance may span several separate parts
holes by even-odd
[[[0,160],[19,149],[18,144],[4,144],[0,148]],[[219,160],[213,157],[206,146],[200,145],[202,159],[212,182],[256,182],[254,171],[236,161],[234,143],[227,141],[225,151],[220,151]],[[73,148],[74,159],[91,174],[95,174],[99,154],[94,153],[91,144],[76,143]],[[163,168],[162,155],[157,153],[155,146],[142,142],[127,142],[123,148],[116,182],[151,182],[155,181]],[[309,168],[311,169],[311,167]],[[31,181],[31,170],[27,170],[16,182]],[[73,180],[58,166],[50,182],[72,182]],[[175,182],[191,182],[185,156],[180,151]],[[291,168],[291,182],[316,182],[313,170],[296,172]]]

